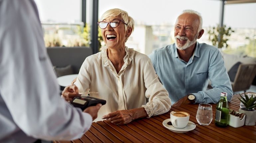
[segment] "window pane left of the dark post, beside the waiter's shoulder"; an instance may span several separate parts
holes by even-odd
[[[46,47],[89,46],[81,22],[81,0],[35,0]]]

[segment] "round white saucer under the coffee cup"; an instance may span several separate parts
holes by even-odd
[[[184,132],[188,132],[191,131],[193,129],[195,129],[195,124],[191,121],[189,121],[189,123],[185,128],[176,128],[173,125],[168,125],[167,123],[170,122],[171,119],[166,119],[165,121],[163,121],[163,125],[164,127],[166,127],[167,129],[173,131],[173,132],[179,132],[179,133],[184,133]]]

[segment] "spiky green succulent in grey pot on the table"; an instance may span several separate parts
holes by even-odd
[[[241,98],[238,97],[238,99],[245,106],[245,108],[239,108],[239,112],[240,113],[244,113],[246,115],[244,125],[255,125],[255,122],[256,122],[256,110],[254,108],[256,108],[256,103],[254,103],[254,102],[256,101],[256,97],[254,97],[252,95],[249,98],[248,94],[245,94],[245,93],[244,93],[244,96],[242,96],[239,93],[239,96]]]

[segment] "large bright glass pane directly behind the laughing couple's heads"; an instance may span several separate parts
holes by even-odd
[[[174,43],[174,24],[183,10],[201,13],[204,29],[219,23],[220,16],[220,1],[216,0],[129,0],[125,4],[120,0],[99,0],[99,18],[112,8],[127,11],[135,20],[134,32],[126,46],[147,55]],[[198,41],[211,44],[207,32]]]

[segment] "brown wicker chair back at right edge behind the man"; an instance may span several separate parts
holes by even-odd
[[[240,64],[234,82],[231,82],[233,91],[246,91],[249,89],[255,75],[256,63]]]

